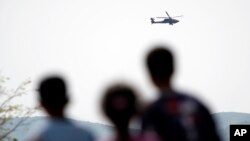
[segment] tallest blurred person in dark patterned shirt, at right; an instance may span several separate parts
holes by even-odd
[[[165,46],[155,46],[146,65],[160,97],[143,116],[143,133],[153,131],[163,141],[219,141],[208,109],[195,98],[173,89],[172,53]]]

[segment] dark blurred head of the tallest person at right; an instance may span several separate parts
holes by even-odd
[[[146,58],[147,67],[154,84],[158,87],[170,85],[170,79],[174,72],[174,60],[167,47],[155,46]]]

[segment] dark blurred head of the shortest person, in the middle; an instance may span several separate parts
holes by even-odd
[[[136,113],[137,98],[132,88],[117,84],[109,87],[102,101],[104,114],[117,128],[127,128]]]

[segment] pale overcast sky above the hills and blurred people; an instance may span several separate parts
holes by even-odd
[[[70,85],[68,115],[105,122],[99,100],[106,84],[126,80],[146,99],[154,87],[144,68],[153,43],[171,45],[176,88],[213,112],[250,112],[248,0],[0,0],[0,70],[10,87],[59,72]],[[184,15],[151,25],[150,17]],[[22,98],[36,103],[35,92]]]

